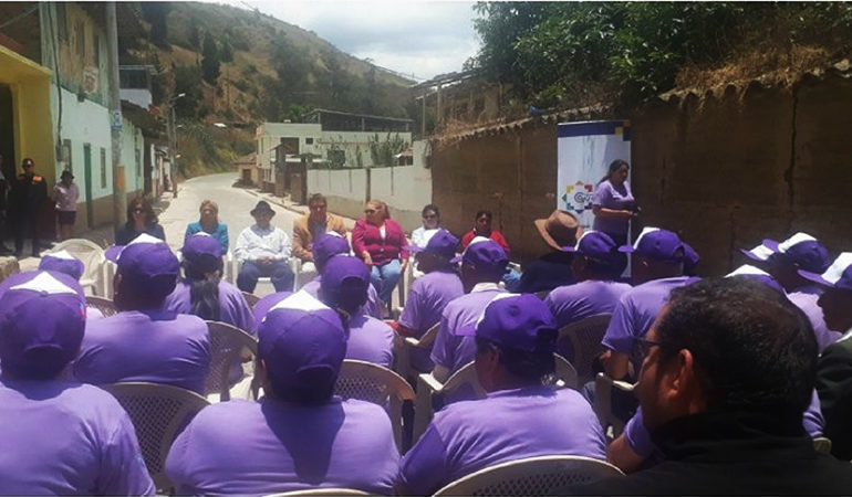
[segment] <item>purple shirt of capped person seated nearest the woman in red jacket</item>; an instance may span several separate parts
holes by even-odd
[[[461,279],[455,272],[433,271],[414,281],[408,298],[399,316],[399,324],[416,330],[420,338],[429,328],[440,322],[444,308],[451,300],[465,295]],[[432,349],[412,350],[412,366],[420,372],[429,372],[433,364],[429,359]]]

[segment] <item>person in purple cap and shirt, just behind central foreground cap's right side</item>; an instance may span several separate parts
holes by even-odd
[[[368,286],[367,266],[357,257],[337,255],[323,267],[320,299],[350,316],[346,359],[391,368],[394,362],[394,330],[385,321],[360,311],[367,299]]]

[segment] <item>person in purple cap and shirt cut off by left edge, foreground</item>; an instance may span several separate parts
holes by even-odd
[[[154,495],[118,402],[58,380],[85,325],[83,289],[64,274],[20,273],[0,285],[2,495]]]

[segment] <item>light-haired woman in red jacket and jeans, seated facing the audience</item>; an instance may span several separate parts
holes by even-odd
[[[391,308],[391,294],[408,261],[403,251],[408,241],[399,223],[391,219],[386,203],[371,200],[364,214],[352,230],[352,250],[370,267],[370,279],[378,298]]]

